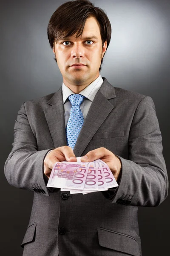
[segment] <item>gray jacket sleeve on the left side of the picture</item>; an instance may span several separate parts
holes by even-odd
[[[37,140],[29,125],[23,103],[15,120],[14,143],[4,167],[8,183],[20,189],[50,196],[49,192],[52,190],[46,187],[48,177],[44,174],[43,161],[51,149],[53,148],[37,150]]]

